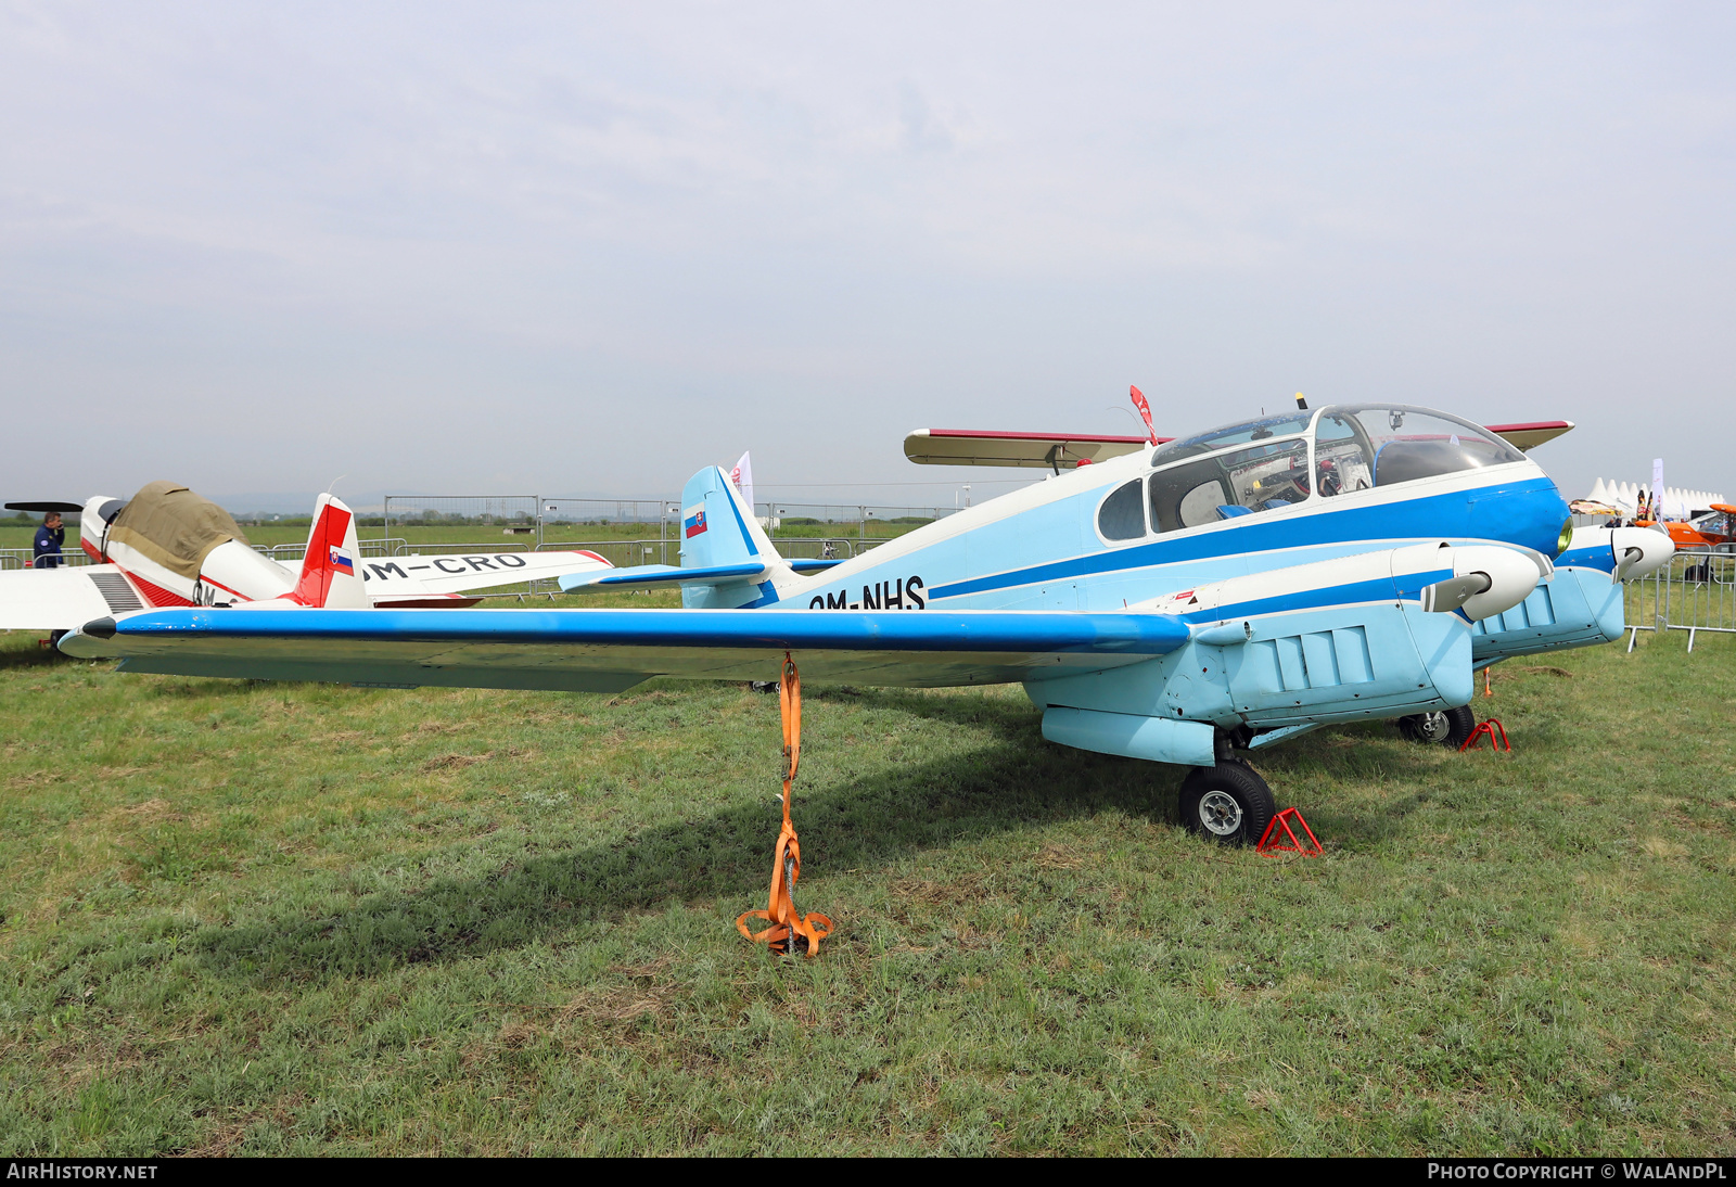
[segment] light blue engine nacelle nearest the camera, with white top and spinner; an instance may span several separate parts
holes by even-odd
[[[1422,545],[1219,581],[1149,607],[1193,625],[1180,649],[1024,687],[1050,741],[1210,765],[1219,731],[1299,731],[1469,703],[1463,611],[1510,609],[1540,576],[1517,550]],[[1483,594],[1465,594],[1479,585]]]

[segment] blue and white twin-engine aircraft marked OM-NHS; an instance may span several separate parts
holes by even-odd
[[[1057,467],[1059,469],[1059,467]],[[170,609],[61,649],[127,672],[370,687],[618,692],[651,677],[1017,682],[1043,738],[1189,765],[1182,821],[1257,840],[1238,751],[1328,722],[1427,718],[1514,654],[1614,640],[1646,529],[1575,533],[1500,436],[1401,404],[1262,416],[1146,446],[821,567],[778,555],[724,470],[682,491],[682,564],[562,580],[679,585],[682,609]]]

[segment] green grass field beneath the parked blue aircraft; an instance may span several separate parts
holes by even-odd
[[[637,600],[634,604],[646,604]],[[1260,764],[1323,859],[1017,691],[170,677],[0,637],[10,1154],[1736,1152],[1736,647],[1498,672],[1516,753]],[[767,672],[767,679],[773,673]]]

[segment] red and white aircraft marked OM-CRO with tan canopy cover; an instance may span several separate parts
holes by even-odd
[[[314,507],[302,561],[257,552],[217,503],[175,482],[151,482],[130,502],[97,495],[76,503],[7,503],[14,510],[78,514],[89,564],[0,573],[0,630],[64,632],[102,614],[167,606],[474,606],[481,590],[533,578],[609,569],[594,552],[490,552],[363,559],[354,515],[330,495]],[[339,522],[342,521],[342,522]],[[349,538],[349,543],[345,543]],[[326,600],[307,585],[323,548],[342,552],[356,600]],[[342,585],[340,585],[342,588]]]

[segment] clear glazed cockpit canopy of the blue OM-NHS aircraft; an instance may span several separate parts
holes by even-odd
[[[1524,455],[1495,434],[1404,404],[1330,406],[1224,425],[1151,455],[1097,510],[1104,540],[1200,528],[1314,498],[1457,474]]]

